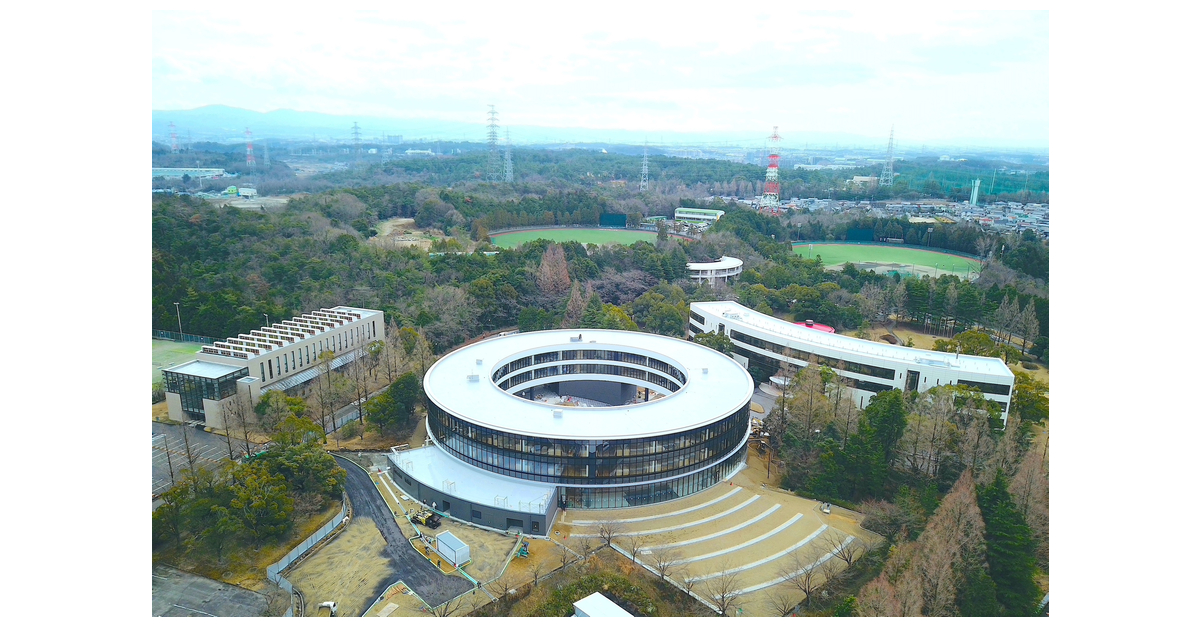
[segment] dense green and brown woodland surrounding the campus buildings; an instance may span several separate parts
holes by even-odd
[[[678,166],[679,177],[696,181],[704,180],[706,167],[734,166],[684,161]],[[736,168],[728,173],[737,175]],[[652,205],[628,189],[558,179],[452,189],[407,180],[298,196],[271,213],[154,197],[155,328],[176,327],[174,303],[185,332],[217,338],[258,328],[263,315],[277,321],[341,304],[379,309],[388,324],[385,340],[365,346],[353,369],[323,372],[305,398],[264,396],[256,424],[292,443],[218,473],[187,471],[172,488],[170,507],[155,514],[156,547],[221,562],[232,548],[284,537],[298,507],[311,509],[311,495],[331,498],[338,485],[336,473],[316,483],[288,473],[294,467],[286,462],[289,455],[310,455],[314,468],[323,467],[306,448],[319,444],[302,436],[298,422],[335,440],[362,437],[367,430],[406,437],[415,425],[428,365],[438,354],[499,329],[613,328],[682,338],[690,303],[731,299],[839,329],[911,323],[943,336],[937,346],[943,351],[1049,358],[1049,249],[1037,238],[937,227],[931,245],[984,258],[973,281],[954,275],[901,279],[850,264],[827,269],[790,246],[805,228],[817,228],[814,222],[788,226],[720,201],[713,204],[727,214],[695,241],[660,237],[630,246],[583,246],[536,240],[497,250],[487,240],[491,229],[506,226],[592,225],[604,214],[653,215],[700,204],[698,190],[674,191],[650,195],[656,198]],[[462,253],[431,256],[367,241],[380,220],[396,216],[452,235],[455,244],[442,240],[440,250]],[[844,237],[847,228],[872,228],[883,237],[896,237],[892,233],[899,229],[907,238],[911,229],[905,221],[853,216],[821,225],[826,238]],[[738,281],[709,286],[686,280],[689,261],[721,255],[745,262]],[[728,348],[715,338],[704,341]],[[751,374],[757,381],[774,375]],[[1044,384],[1019,374],[1009,425],[998,430],[1000,408],[970,389],[881,393],[859,411],[846,382],[828,368],[786,375],[791,384],[768,416],[773,450],[786,468],[784,485],[862,508],[864,524],[894,547],[890,556],[876,555],[878,577],[847,601],[857,603],[854,611],[1033,611],[1033,573],[1049,568],[1048,453],[1031,437],[1031,425],[1049,416]],[[371,386],[385,389],[360,406],[359,420],[331,430],[325,420],[334,411],[366,396],[368,388],[376,389]],[[281,425],[284,431],[277,432]],[[244,507],[248,498],[263,504],[250,512]]]

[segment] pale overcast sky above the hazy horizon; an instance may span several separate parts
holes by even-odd
[[[152,108],[1049,148],[1046,12],[431,5],[156,12]]]

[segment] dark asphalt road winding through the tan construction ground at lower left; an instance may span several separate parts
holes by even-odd
[[[346,494],[350,498],[354,515],[373,520],[388,543],[384,555],[391,563],[392,577],[372,593],[374,598],[396,580],[403,580],[430,607],[440,605],[473,587],[470,581],[461,577],[442,574],[424,555],[416,553],[367,471],[347,459],[336,455],[335,459],[338,466],[346,468]]]

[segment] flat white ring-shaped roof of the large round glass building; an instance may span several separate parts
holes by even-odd
[[[571,341],[581,334],[582,341]],[[650,402],[614,407],[562,407],[514,396],[492,381],[492,372],[514,359],[570,350],[624,351],[660,358],[682,366],[688,382],[673,394]],[[580,375],[572,380],[611,378],[605,375]],[[439,359],[425,374],[425,394],[438,407],[464,420],[510,434],[564,440],[613,440],[686,431],[720,420],[750,401],[754,381],[733,359],[695,342],[624,330],[559,329],[493,338],[458,348]],[[562,417],[557,418],[556,412],[560,412]]]

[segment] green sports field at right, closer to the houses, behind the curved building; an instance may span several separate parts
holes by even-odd
[[[900,246],[870,246],[862,244],[792,244],[792,252],[811,258],[820,255],[826,267],[851,262],[860,270],[878,274],[900,273],[901,276],[924,274],[956,274],[966,277],[979,271],[979,262],[946,252]]]

